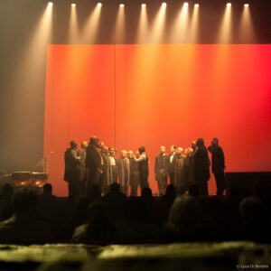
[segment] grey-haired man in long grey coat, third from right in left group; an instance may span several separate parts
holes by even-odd
[[[126,157],[127,152],[125,150],[120,152],[120,158],[117,159],[117,173],[120,185],[120,192],[128,195],[128,187],[130,185],[130,166],[129,159]]]

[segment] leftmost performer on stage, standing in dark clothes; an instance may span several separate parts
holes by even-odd
[[[77,155],[77,143],[75,141],[70,141],[70,148],[68,148],[64,154],[64,181],[69,183],[69,197],[79,197],[80,160],[81,158]]]

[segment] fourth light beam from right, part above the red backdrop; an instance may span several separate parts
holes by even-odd
[[[179,14],[176,15],[170,33],[170,41],[173,43],[188,42],[188,5],[182,5]]]

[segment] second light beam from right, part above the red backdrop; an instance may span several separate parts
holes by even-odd
[[[232,16],[231,4],[227,4],[225,13],[220,24],[219,41],[218,43],[229,43],[231,40]]]

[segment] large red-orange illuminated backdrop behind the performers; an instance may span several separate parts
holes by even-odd
[[[68,194],[63,154],[97,135],[119,150],[220,139],[227,171],[271,170],[271,45],[49,45],[44,155],[54,193]],[[119,155],[119,154],[117,154]],[[211,177],[209,192],[216,192]]]

